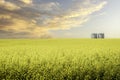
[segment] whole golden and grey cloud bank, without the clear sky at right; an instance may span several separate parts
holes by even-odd
[[[105,0],[0,0],[0,38],[50,37],[49,30],[79,27]],[[69,7],[65,7],[65,5]]]

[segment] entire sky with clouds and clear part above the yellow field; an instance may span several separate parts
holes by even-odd
[[[120,38],[120,0],[0,0],[0,38]]]

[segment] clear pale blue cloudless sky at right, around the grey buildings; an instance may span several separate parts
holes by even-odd
[[[105,33],[107,38],[120,38],[120,1],[108,0],[107,4],[82,25],[70,30],[53,31],[56,37],[90,38],[91,33]],[[59,36],[58,36],[59,35]]]

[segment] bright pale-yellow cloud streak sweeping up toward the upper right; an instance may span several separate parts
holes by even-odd
[[[103,1],[99,4],[87,4],[89,7],[84,7],[76,5],[77,7],[73,9],[68,9],[65,11],[65,14],[61,16],[55,16],[52,19],[47,20],[46,26],[50,29],[70,29],[71,27],[78,27],[89,20],[89,16],[101,10],[106,1]]]

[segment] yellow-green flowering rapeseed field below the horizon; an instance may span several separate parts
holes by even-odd
[[[120,39],[1,39],[0,80],[120,80]]]

